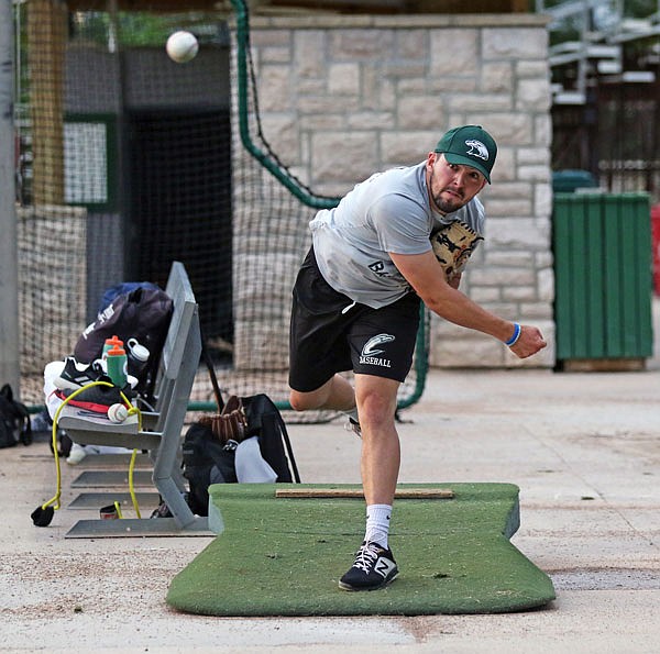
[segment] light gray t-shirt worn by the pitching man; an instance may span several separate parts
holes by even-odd
[[[455,220],[483,235],[484,208],[477,198],[447,215],[430,208],[422,162],[372,175],[336,208],[319,211],[309,226],[326,281],[355,302],[380,309],[410,290],[388,253],[428,252],[431,233]]]

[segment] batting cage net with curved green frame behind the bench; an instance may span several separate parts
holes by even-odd
[[[315,195],[267,142],[244,0],[123,4],[15,4],[22,399],[43,404],[45,365],[73,352],[109,288],[165,288],[178,261],[223,392],[266,392],[286,411],[290,291],[308,222],[338,199]],[[165,52],[178,30],[199,42],[186,64]],[[424,388],[427,322],[399,407]],[[191,406],[212,400],[200,365]]]

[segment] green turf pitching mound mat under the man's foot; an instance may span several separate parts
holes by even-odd
[[[278,497],[287,491],[304,496]],[[501,613],[554,599],[550,578],[509,542],[519,526],[510,484],[399,485],[389,539],[399,575],[371,592],[338,587],[364,535],[359,486],[219,484],[209,492],[209,525],[221,533],[173,579],[167,602],[182,611]]]

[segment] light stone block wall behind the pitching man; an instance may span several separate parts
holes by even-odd
[[[263,133],[316,193],[341,196],[375,170],[418,163],[446,130],[458,124],[479,123],[495,136],[499,153],[493,185],[481,195],[488,215],[486,242],[463,276],[462,290],[495,313],[538,324],[549,347],[519,362],[493,339],[433,317],[430,363],[552,366],[551,120],[544,19],[532,14],[253,18],[251,42]],[[248,156],[239,151],[234,147],[235,157]],[[240,184],[237,180],[238,193]],[[237,231],[243,221],[258,221],[258,211],[237,206]],[[288,293],[312,214],[307,208],[302,220],[296,218],[286,228],[293,232],[290,250],[282,253],[277,280],[255,284],[235,277],[240,285],[235,296],[245,307],[252,295],[245,285],[256,295],[267,293],[268,284],[278,285],[276,292]],[[260,342],[266,347],[266,336],[251,331],[242,343],[250,315],[238,307],[235,318],[237,366],[252,367],[250,353],[258,351]],[[287,337],[286,332],[279,336],[284,352]],[[268,339],[267,350],[274,351],[273,336]]]

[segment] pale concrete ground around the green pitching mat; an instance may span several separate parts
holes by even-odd
[[[70,483],[89,461],[63,465],[63,509],[51,526],[34,526],[30,513],[55,488],[48,445],[38,442],[0,451],[0,651],[657,653],[659,352],[642,373],[433,370],[422,399],[404,412],[402,483],[519,486],[513,543],[550,575],[558,596],[542,610],[351,619],[177,613],[165,603],[168,584],[209,539],[65,540],[79,518],[98,514],[66,508],[80,491]],[[340,423],[289,432],[304,481],[359,481],[360,441]]]

